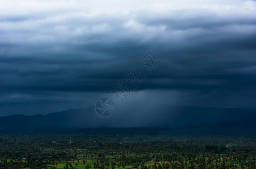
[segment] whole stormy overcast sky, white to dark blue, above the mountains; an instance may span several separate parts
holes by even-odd
[[[0,116],[94,105],[147,51],[123,105],[256,108],[256,1],[1,0]]]

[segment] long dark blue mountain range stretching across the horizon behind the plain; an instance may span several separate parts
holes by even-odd
[[[0,117],[0,131],[35,128],[157,127],[172,128],[170,132],[173,134],[255,132],[255,110],[194,106],[168,106],[164,110],[153,115],[124,110],[115,112],[108,118],[101,118],[91,106],[46,115],[11,115]]]

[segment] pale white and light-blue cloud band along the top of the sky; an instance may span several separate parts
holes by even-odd
[[[28,45],[79,43],[79,37],[105,42],[109,35],[114,42],[131,36],[166,42],[227,24],[232,33],[237,25],[255,25],[256,16],[253,1],[1,1],[0,11],[1,43]]]

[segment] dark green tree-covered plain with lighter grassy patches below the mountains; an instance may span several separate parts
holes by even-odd
[[[1,134],[0,168],[256,168],[255,136],[118,132]]]

